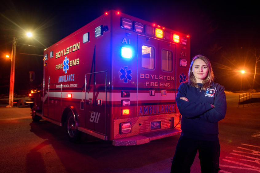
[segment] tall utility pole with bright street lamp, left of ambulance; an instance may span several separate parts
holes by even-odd
[[[29,35],[29,36],[28,36]],[[32,33],[27,33],[28,37],[32,37]],[[17,38],[13,39],[13,46],[11,52],[11,73],[10,73],[10,89],[9,89],[9,105],[6,107],[13,107],[14,102],[14,70],[15,70],[15,54],[16,54]]]

